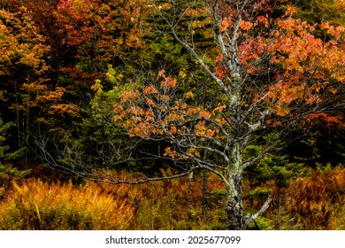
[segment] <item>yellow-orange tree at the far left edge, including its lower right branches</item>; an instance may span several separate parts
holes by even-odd
[[[29,137],[42,121],[56,113],[77,111],[61,103],[65,89],[50,83],[49,51],[27,9],[0,10],[1,112],[6,121],[15,122],[20,148],[32,142]]]

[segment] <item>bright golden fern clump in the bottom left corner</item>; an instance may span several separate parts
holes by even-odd
[[[70,182],[13,182],[0,206],[0,229],[126,229],[133,207],[97,187],[78,189]]]

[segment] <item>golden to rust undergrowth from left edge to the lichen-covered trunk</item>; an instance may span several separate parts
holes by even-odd
[[[219,208],[201,214],[201,182],[12,184],[0,202],[0,229],[219,229],[222,222]]]

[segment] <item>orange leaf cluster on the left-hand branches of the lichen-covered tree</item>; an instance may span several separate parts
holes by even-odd
[[[201,138],[219,136],[219,125],[228,126],[223,120],[222,113],[226,112],[226,105],[220,104],[208,111],[203,106],[188,105],[186,101],[194,97],[192,92],[187,92],[182,98],[173,99],[174,90],[178,87],[175,78],[165,75],[160,71],[157,76],[157,85],[149,84],[139,90],[126,91],[121,97],[121,104],[115,104],[113,112],[115,121],[124,121],[130,136],[149,138],[150,136],[180,136],[186,133]],[[185,97],[185,98],[183,98]],[[214,120],[206,123],[205,119]],[[187,128],[188,122],[194,125]],[[176,158],[176,151],[167,148],[165,156]],[[196,155],[199,152],[188,152]]]

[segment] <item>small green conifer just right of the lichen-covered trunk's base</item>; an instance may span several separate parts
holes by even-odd
[[[265,143],[270,143],[274,136],[274,132],[265,136]],[[244,151],[243,159],[254,159],[265,149],[264,145],[249,145]],[[244,177],[249,183],[248,191],[244,194],[244,199],[249,200],[249,211],[256,209],[255,203],[260,205],[265,202],[269,196],[274,198],[276,202],[271,208],[276,208],[278,214],[273,218],[266,219],[260,217],[249,225],[249,229],[280,229],[280,204],[282,198],[282,190],[287,188],[292,178],[304,174],[303,164],[291,162],[287,154],[267,152],[257,164],[246,168]],[[274,207],[276,206],[276,207]]]

